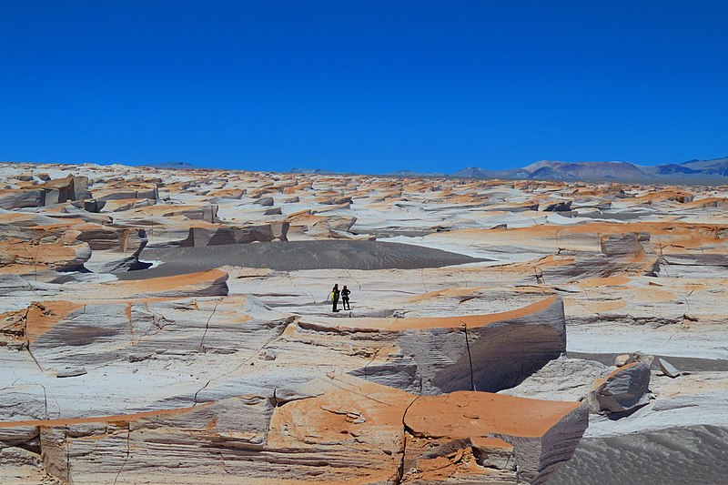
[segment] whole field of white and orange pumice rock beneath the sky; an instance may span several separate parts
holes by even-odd
[[[726,187],[0,178],[2,483],[724,476]]]

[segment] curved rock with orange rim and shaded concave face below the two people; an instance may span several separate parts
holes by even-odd
[[[360,332],[358,337],[371,338],[372,345],[388,343],[401,351],[393,359],[374,359],[352,375],[421,394],[511,388],[566,351],[558,297],[501,314],[399,318],[389,324],[361,320],[361,327],[347,321],[339,331]]]

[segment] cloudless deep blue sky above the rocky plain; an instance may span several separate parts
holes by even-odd
[[[728,156],[728,2],[0,0],[0,160]]]

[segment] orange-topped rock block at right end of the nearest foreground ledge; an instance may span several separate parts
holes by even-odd
[[[453,392],[416,399],[404,417],[402,483],[548,480],[587,428],[578,402]]]

